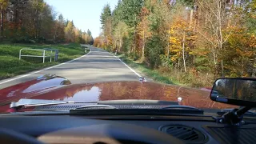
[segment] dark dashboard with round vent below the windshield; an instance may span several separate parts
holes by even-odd
[[[0,129],[45,143],[256,142],[255,121],[237,127],[203,116],[11,115],[0,117]]]

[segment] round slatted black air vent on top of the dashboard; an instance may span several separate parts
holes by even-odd
[[[189,126],[168,125],[162,126],[160,130],[186,143],[205,143],[207,141],[205,134]]]

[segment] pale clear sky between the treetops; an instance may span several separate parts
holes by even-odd
[[[118,0],[45,0],[54,10],[61,13],[65,19],[74,21],[79,29],[89,29],[93,37],[100,33],[100,15],[103,6],[110,4],[111,10],[118,4]]]

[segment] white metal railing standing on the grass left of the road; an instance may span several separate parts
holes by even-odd
[[[42,51],[42,55],[22,55],[22,50],[35,50],[35,51]],[[46,55],[46,51],[50,51],[50,55]],[[53,54],[54,51],[54,54]],[[55,49],[30,49],[30,48],[22,48],[19,50],[19,59],[21,60],[22,57],[34,57],[34,58],[42,58],[42,63],[45,62],[46,58],[51,58],[54,57],[54,62],[58,60],[58,50]]]

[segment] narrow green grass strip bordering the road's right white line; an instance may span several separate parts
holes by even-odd
[[[146,67],[142,63],[134,62],[132,59],[127,58],[124,54],[121,54],[118,56],[123,62],[126,62],[126,64],[130,67],[132,67],[134,70],[140,71],[142,74],[145,74],[146,77],[151,78],[154,80],[154,82],[162,82],[166,84],[174,84],[174,85],[182,85],[181,83],[177,82],[174,78],[165,76],[161,74],[158,70],[152,70],[148,67]]]

